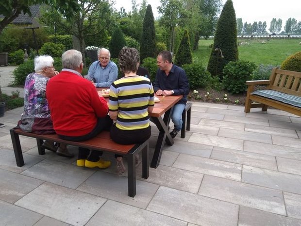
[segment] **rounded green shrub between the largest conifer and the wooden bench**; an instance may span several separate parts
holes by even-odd
[[[251,74],[256,65],[248,61],[230,61],[223,70],[223,86],[231,94],[247,90],[246,81],[251,80]]]

